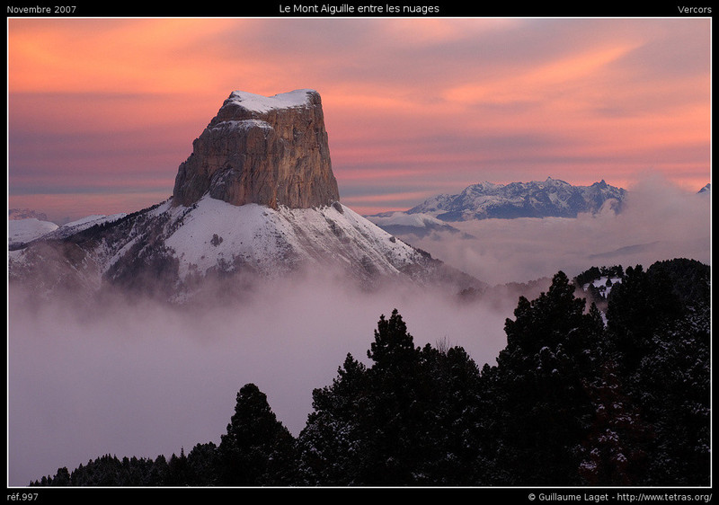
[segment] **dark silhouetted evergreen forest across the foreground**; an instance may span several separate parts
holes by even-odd
[[[611,273],[603,306],[581,284]],[[415,346],[381,315],[368,365],[348,354],[293,436],[253,384],[219,445],[101,456],[48,486],[706,486],[710,271],[659,261],[559,271],[519,297],[496,365]]]

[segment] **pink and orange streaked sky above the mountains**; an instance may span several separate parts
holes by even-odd
[[[166,199],[234,90],[316,89],[342,201],[475,182],[710,182],[711,20],[9,19],[8,204]]]

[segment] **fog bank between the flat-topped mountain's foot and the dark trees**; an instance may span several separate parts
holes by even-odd
[[[461,345],[481,367],[504,346],[511,314],[498,300],[457,305],[425,290],[368,294],[324,281],[270,286],[243,305],[201,311],[10,305],[10,485],[105,454],[155,459],[218,444],[250,382],[297,435],[313,389],[332,383],[347,353],[369,362],[380,315],[397,308],[415,345]]]

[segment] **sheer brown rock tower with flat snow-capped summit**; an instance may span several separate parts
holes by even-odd
[[[339,200],[319,93],[231,93],[180,165],[173,204],[188,207],[205,194],[271,208]]]

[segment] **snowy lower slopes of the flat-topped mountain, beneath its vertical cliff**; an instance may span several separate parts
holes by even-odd
[[[206,196],[189,208],[172,199],[10,253],[11,281],[37,290],[101,288],[182,303],[245,281],[336,275],[363,288],[381,282],[478,285],[335,202],[323,208],[234,206]]]

